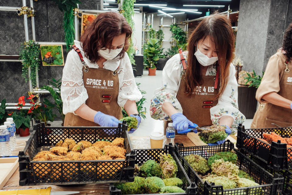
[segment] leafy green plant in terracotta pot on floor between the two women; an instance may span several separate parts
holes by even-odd
[[[156,66],[155,64],[159,60],[161,55],[160,44],[158,39],[150,39],[147,41],[144,49],[144,56],[146,60],[144,61],[148,67],[148,72],[150,76],[155,76]]]

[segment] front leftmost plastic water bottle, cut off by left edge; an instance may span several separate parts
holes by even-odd
[[[11,156],[11,149],[9,144],[9,131],[6,125],[0,126],[0,156]]]

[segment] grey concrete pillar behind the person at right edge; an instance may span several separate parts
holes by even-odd
[[[291,0],[240,1],[235,51],[243,60],[244,70],[254,69],[260,75],[265,71],[270,56],[282,45],[285,28],[292,22],[291,4]]]

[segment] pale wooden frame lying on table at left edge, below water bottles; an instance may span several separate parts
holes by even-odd
[[[2,190],[18,166],[18,157],[0,158],[0,190]]]

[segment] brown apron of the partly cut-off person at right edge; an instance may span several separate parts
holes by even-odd
[[[283,71],[280,73],[280,91],[278,94],[283,98],[292,100],[292,63],[288,62],[286,65],[283,53],[278,52],[278,55],[284,64]],[[278,127],[277,125],[280,127],[292,126],[292,110],[271,103],[260,103],[253,117],[251,128],[273,128]]]

